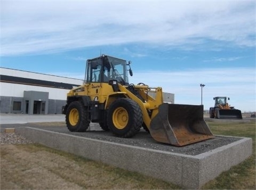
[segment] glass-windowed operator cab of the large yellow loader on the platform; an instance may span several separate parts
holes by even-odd
[[[125,60],[102,55],[100,57],[87,60],[85,82],[106,82],[116,80],[122,85],[129,85],[127,74],[127,65],[130,67],[130,61],[127,64]],[[131,75],[131,68],[129,69]]]

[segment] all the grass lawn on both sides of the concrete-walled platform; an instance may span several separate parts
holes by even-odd
[[[253,155],[202,189],[255,189],[255,123],[207,123],[214,135],[252,138]],[[0,182],[0,189],[179,189],[39,144],[1,145]]]

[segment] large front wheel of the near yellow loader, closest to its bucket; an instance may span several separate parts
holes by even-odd
[[[129,138],[139,133],[142,126],[140,106],[129,98],[118,98],[108,110],[107,124],[118,137]]]

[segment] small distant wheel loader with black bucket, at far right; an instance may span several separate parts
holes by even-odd
[[[234,106],[230,106],[227,100],[229,97],[214,97],[214,107],[209,110],[210,118],[215,119],[243,119],[241,110],[237,110]]]

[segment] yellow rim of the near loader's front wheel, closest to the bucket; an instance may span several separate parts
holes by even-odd
[[[129,121],[129,115],[124,108],[119,107],[114,111],[112,119],[117,129],[123,129]]]

